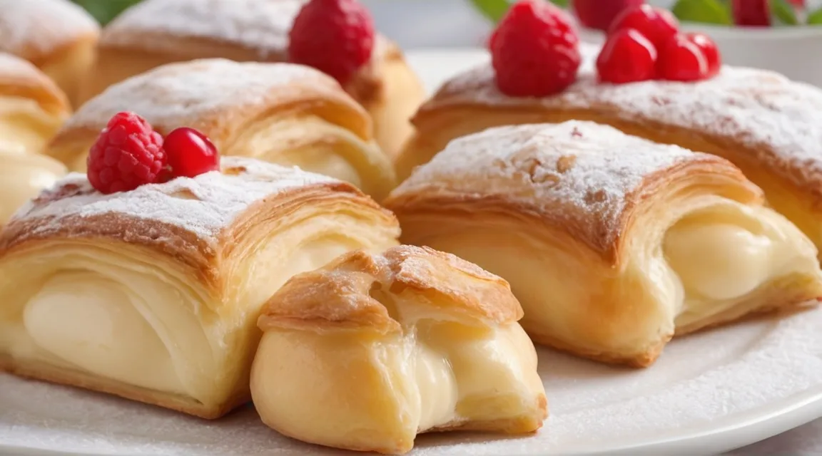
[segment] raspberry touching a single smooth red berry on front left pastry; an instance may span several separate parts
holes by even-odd
[[[163,137],[141,116],[118,112],[91,146],[88,178],[104,194],[159,181],[166,163]]]

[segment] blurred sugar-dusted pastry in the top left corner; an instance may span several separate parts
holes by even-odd
[[[72,102],[98,36],[95,18],[70,0],[0,0],[0,51],[34,63]]]

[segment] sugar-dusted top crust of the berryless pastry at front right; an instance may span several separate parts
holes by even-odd
[[[760,197],[760,189],[723,158],[653,143],[607,125],[502,126],[451,141],[385,204],[404,210],[405,201],[413,206],[419,195],[435,206],[438,198],[477,201],[535,214],[604,252],[616,244],[630,208],[673,180],[703,172],[724,176]]]

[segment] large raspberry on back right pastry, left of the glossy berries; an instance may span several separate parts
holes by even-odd
[[[544,97],[576,80],[580,40],[565,11],[541,0],[516,2],[490,41],[496,85],[512,97]]]

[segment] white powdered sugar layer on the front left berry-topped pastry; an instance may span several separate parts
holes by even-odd
[[[116,213],[178,226],[207,242],[229,226],[249,205],[304,185],[338,182],[330,177],[245,157],[223,157],[223,172],[180,177],[142,185],[129,192],[101,194],[83,174],[72,173],[45,190],[12,217],[12,222],[43,219],[39,231],[58,230],[67,218]]]

